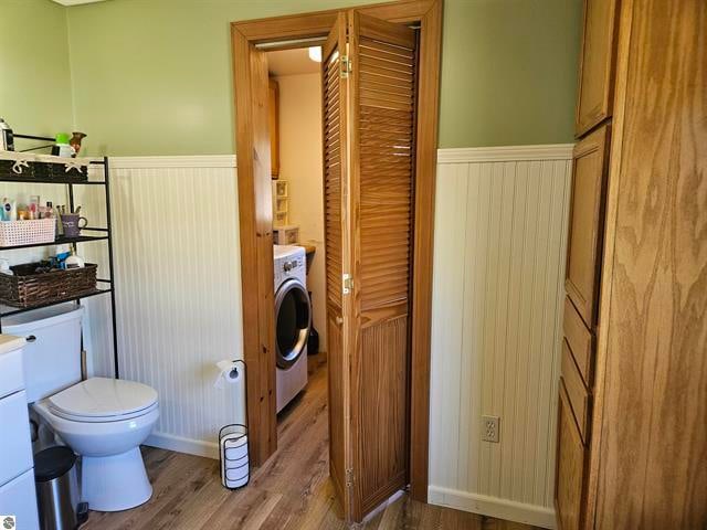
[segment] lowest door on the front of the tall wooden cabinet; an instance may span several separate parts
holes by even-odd
[[[555,504],[559,528],[577,530],[582,517],[587,449],[574,423],[562,381],[558,411]]]

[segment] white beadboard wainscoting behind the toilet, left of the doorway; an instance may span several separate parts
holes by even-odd
[[[84,188],[77,203],[101,225],[102,190]],[[218,458],[219,428],[245,420],[244,378],[213,385],[217,361],[243,358],[235,157],[110,158],[110,194],[120,377],[159,393],[147,443]],[[105,264],[94,245],[86,257]],[[84,305],[89,370],[112,375],[109,299]]]

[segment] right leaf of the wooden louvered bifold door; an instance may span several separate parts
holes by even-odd
[[[408,481],[416,35],[349,19],[354,511]]]

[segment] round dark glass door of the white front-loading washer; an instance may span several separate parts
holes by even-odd
[[[275,295],[275,351],[277,368],[289,368],[299,358],[312,327],[312,305],[307,289],[288,279]]]

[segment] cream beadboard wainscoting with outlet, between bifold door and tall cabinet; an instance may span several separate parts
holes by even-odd
[[[555,526],[571,145],[441,149],[430,501]],[[482,442],[482,415],[500,442]]]

